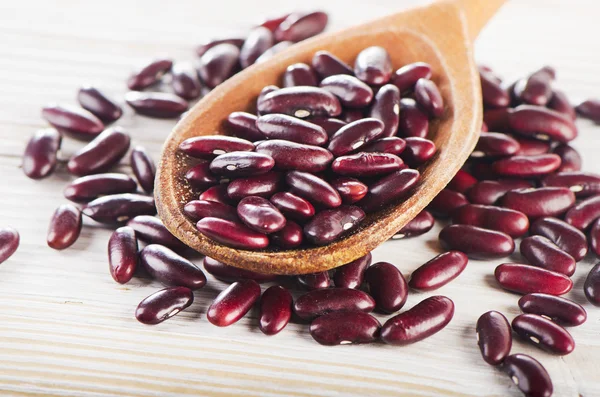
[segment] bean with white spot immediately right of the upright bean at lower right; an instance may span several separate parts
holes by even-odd
[[[563,356],[575,349],[575,341],[566,329],[537,314],[518,315],[512,328],[523,339],[550,353]]]

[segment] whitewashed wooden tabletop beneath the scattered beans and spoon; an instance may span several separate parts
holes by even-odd
[[[484,0],[482,0],[484,1]],[[322,4],[324,3],[324,4]],[[474,325],[483,312],[519,313],[518,296],[500,290],[501,261],[471,261],[435,294],[456,304],[439,334],[407,347],[322,347],[305,325],[264,336],[256,313],[225,329],[206,320],[225,286],[209,280],[196,303],[161,325],[133,317],[137,303],[160,285],[135,279],[121,286],[108,274],[110,231],[85,227],[64,252],[45,244],[49,217],[63,203],[69,177],[61,170],[34,182],[20,170],[28,137],[45,124],[47,102],[73,103],[91,82],[120,96],[132,65],[157,54],[192,60],[193,46],[251,26],[268,15],[324,8],[331,29],[397,11],[418,1],[260,0],[19,0],[0,2],[0,224],[21,233],[17,253],[0,266],[0,394],[14,396],[519,396],[499,371],[484,364]],[[512,0],[484,31],[478,60],[511,80],[545,63],[573,101],[600,96],[600,6],[594,0]],[[171,121],[134,116],[119,122],[157,157]],[[600,127],[578,121],[587,170],[600,170]],[[67,141],[63,156],[80,144]],[[374,259],[409,274],[436,255],[439,226],[429,234],[385,243]],[[518,261],[518,256],[513,260]],[[595,258],[578,265],[567,296],[586,303],[582,285]],[[406,307],[431,294],[411,293]],[[549,371],[555,396],[600,396],[600,309],[570,329],[577,348],[555,357],[515,341]]]

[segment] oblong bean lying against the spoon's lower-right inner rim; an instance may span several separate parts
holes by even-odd
[[[405,169],[384,176],[369,186],[369,192],[361,200],[360,205],[366,212],[373,212],[405,197],[419,182],[417,170]]]

